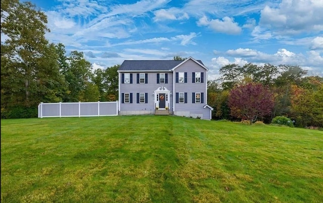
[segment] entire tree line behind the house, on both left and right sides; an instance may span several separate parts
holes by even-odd
[[[83,52],[49,43],[47,16],[30,2],[1,1],[1,117],[37,117],[40,102],[118,100],[119,64],[92,70]],[[174,56],[174,60],[184,60]],[[213,119],[261,120],[277,116],[297,126],[323,125],[323,78],[297,65],[228,64],[207,81]]]

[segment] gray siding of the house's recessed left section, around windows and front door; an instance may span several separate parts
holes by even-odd
[[[143,72],[141,72],[143,73]],[[157,84],[157,73],[167,73],[168,83],[167,84]],[[132,103],[120,103],[120,114],[153,114],[154,113],[154,96],[153,92],[158,87],[166,87],[172,93],[170,99],[170,110],[173,108],[173,73],[172,72],[147,72],[147,84],[137,84],[137,72],[132,72],[133,83],[132,84],[122,84],[120,83],[120,95],[122,93],[132,93]],[[137,93],[147,93],[148,103],[137,103]],[[122,101],[122,98],[120,98]]]

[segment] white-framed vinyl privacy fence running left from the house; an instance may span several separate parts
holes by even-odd
[[[118,101],[40,103],[38,118],[118,115]]]

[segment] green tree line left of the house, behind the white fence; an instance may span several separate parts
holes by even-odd
[[[36,117],[40,102],[117,100],[119,65],[93,72],[83,52],[48,42],[46,23],[30,2],[1,1],[1,117]]]

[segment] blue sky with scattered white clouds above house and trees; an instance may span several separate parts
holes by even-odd
[[[209,80],[229,63],[300,65],[323,77],[323,0],[32,0],[50,42],[93,69],[192,56]]]

